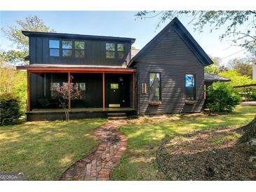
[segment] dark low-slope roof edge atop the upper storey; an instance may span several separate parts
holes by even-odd
[[[50,32],[31,32],[22,31],[25,36],[45,36],[50,38],[66,38],[66,39],[94,39],[104,41],[127,41],[134,43],[135,39],[119,36],[96,36],[96,35],[83,35],[83,34],[62,34],[62,33],[50,33]]]

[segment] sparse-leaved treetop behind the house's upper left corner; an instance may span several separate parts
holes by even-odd
[[[22,34],[24,31],[34,32],[55,32],[54,29],[46,26],[36,15],[28,16],[25,20],[17,20],[15,25],[2,27],[1,31],[6,34],[9,41],[13,42],[17,50],[1,51],[1,58],[5,62],[21,62],[24,60],[24,56],[28,55],[29,39]]]

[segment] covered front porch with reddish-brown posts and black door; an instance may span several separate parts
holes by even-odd
[[[135,111],[135,69],[63,64],[30,64],[27,69],[27,120],[63,119],[55,87],[68,84],[70,118],[105,117],[107,113]],[[70,95],[72,86],[81,98]]]

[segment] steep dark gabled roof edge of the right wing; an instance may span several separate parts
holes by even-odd
[[[174,29],[177,34],[180,35],[180,37],[184,40],[184,42],[189,46],[189,48],[192,50],[192,52],[196,55],[198,60],[204,65],[207,66],[209,64],[213,64],[213,61],[210,59],[210,57],[206,54],[206,52],[199,46],[199,44],[196,42],[196,40],[191,36],[191,34],[187,31],[187,29],[182,25],[180,20],[178,18],[174,18],[166,27],[164,27],[159,34],[156,34],[149,43],[147,43],[142,50],[140,50],[135,57],[133,57],[132,60],[130,60],[128,66],[132,66],[133,62],[140,62],[142,57],[146,55],[149,50],[151,50],[154,45],[160,41],[163,34],[168,33],[170,29]]]

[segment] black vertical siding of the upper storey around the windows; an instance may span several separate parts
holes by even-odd
[[[98,40],[83,40],[83,39],[56,39],[60,40],[60,56],[50,57],[49,55],[49,40],[41,36],[29,37],[29,60],[30,64],[89,64],[89,65],[114,65],[121,66],[128,64],[130,61],[131,43],[120,41],[98,41]],[[74,57],[74,43],[73,56],[62,57],[62,41],[84,41],[85,55],[84,57]],[[105,43],[123,43],[125,45],[124,59],[107,59],[105,55]]]

